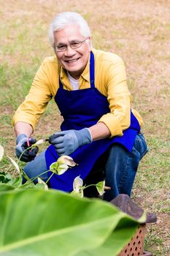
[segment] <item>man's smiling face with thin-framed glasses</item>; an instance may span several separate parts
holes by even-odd
[[[61,66],[66,69],[73,78],[78,79],[88,63],[90,53],[90,37],[82,42],[85,37],[80,32],[78,25],[69,25],[60,31],[54,32],[54,45],[67,45],[65,51],[55,54]],[[82,42],[80,48],[72,49],[69,45],[72,42]]]

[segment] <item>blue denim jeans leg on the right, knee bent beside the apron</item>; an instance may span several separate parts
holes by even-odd
[[[106,190],[104,200],[110,201],[119,194],[131,196],[131,189],[139,166],[139,161],[148,151],[144,135],[136,135],[131,153],[123,146],[115,145],[109,149],[109,157],[105,167]]]

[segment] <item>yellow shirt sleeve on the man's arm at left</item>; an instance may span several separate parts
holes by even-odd
[[[47,103],[51,98],[52,94],[50,92],[50,80],[47,76],[47,64],[43,62],[36,72],[26,99],[19,106],[18,110],[16,110],[12,118],[12,124],[15,125],[18,121],[23,121],[31,124],[34,129],[36,122],[42,116],[42,113],[45,112]]]

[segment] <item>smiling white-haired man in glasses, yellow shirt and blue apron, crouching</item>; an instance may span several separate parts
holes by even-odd
[[[87,22],[76,12],[61,12],[50,24],[50,43],[55,56],[47,57],[34,78],[29,94],[13,118],[16,155],[35,143],[31,138],[36,121],[53,97],[63,123],[61,132],[50,136],[50,146],[36,156],[25,151],[21,159],[29,162],[25,173],[40,173],[47,181],[51,163],[70,155],[77,166],[61,176],[53,175],[50,187],[72,191],[76,176],[85,184],[105,178],[111,187],[104,194],[112,200],[120,193],[131,195],[139,160],[147,152],[140,133],[143,121],[131,109],[122,59],[114,53],[92,48]],[[90,196],[93,196],[90,192]]]

